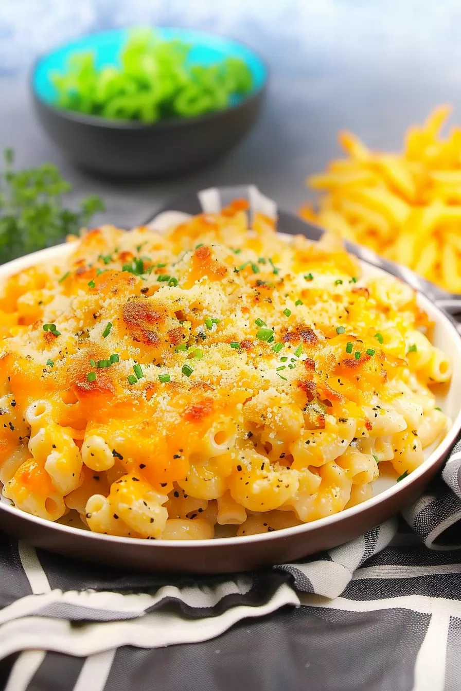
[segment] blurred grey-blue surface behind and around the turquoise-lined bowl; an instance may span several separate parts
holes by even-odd
[[[395,149],[406,125],[451,102],[461,121],[461,3],[456,0],[0,0],[0,149],[20,166],[55,162],[73,198],[100,193],[122,227],[178,194],[253,182],[281,207],[308,198],[304,179],[349,128]],[[261,120],[217,164],[178,180],[104,182],[72,167],[41,131],[28,95],[32,60],[84,32],[127,24],[188,26],[240,38],[270,66]],[[456,106],[458,109],[456,110]]]

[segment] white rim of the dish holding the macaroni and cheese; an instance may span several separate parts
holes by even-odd
[[[287,234],[284,233],[281,233],[281,235],[287,236]],[[27,254],[23,257],[19,257],[11,262],[8,262],[3,266],[0,266],[0,281],[3,278],[7,278],[8,276],[14,274],[15,272],[21,271],[22,269],[25,269],[30,265],[35,265],[35,263],[39,263],[40,261],[53,260],[53,258],[64,258],[66,254],[70,254],[73,247],[77,246],[77,243],[78,241],[62,243],[61,245],[55,245],[54,247],[41,249],[38,252],[33,252],[32,254]],[[386,271],[386,269],[375,267],[372,263],[367,262],[364,259],[360,258],[359,261],[360,263],[369,265],[374,269],[378,268],[379,272],[392,275],[388,271]],[[447,316],[447,314],[445,314],[444,311],[441,310],[440,307],[438,307],[438,305],[436,305],[433,300],[431,300],[426,295],[422,294],[420,291],[416,292],[417,299],[420,305],[422,305],[423,309],[428,309],[429,312],[432,312],[434,314],[434,316],[437,319],[437,323],[441,325],[442,328],[444,328],[444,331],[446,332],[447,336],[451,336],[451,339],[457,346],[461,357],[460,334],[458,334],[458,331],[456,330],[453,321],[449,319],[449,316]],[[451,381],[451,386],[453,386],[453,380]],[[393,486],[389,487],[388,489],[385,489],[384,491],[366,500],[365,502],[362,502],[361,504],[356,504],[354,507],[350,507],[349,509],[339,511],[339,513],[333,513],[332,515],[326,516],[324,518],[319,518],[308,523],[302,523],[301,525],[281,529],[270,533],[256,533],[255,535],[231,538],[214,538],[212,540],[145,540],[144,538],[125,538],[122,536],[106,535],[104,533],[93,533],[92,531],[70,527],[66,524],[51,522],[44,518],[39,518],[38,516],[26,513],[26,511],[21,511],[16,507],[11,507],[4,501],[0,502],[0,513],[1,511],[6,511],[14,515],[15,518],[21,518],[22,520],[35,523],[40,527],[48,529],[50,531],[58,531],[60,533],[63,533],[64,535],[71,534],[77,538],[82,538],[82,540],[103,540],[104,542],[107,542],[109,540],[109,542],[113,542],[114,544],[133,545],[133,547],[137,546],[140,549],[178,549],[178,547],[187,549],[201,549],[202,547],[209,547],[211,549],[213,547],[218,548],[225,546],[227,546],[229,549],[233,549],[236,548],[238,545],[247,545],[253,542],[271,542],[275,538],[283,539],[285,537],[301,537],[303,535],[305,535],[307,538],[308,534],[311,531],[315,531],[316,529],[321,527],[330,527],[331,529],[334,529],[335,525],[338,522],[341,522],[341,520],[345,520],[346,518],[352,518],[352,516],[357,515],[362,511],[365,511],[366,509],[371,509],[372,507],[375,507],[381,504],[382,502],[386,502],[394,495],[397,495],[401,491],[401,489],[408,486],[408,484],[416,481],[421,475],[424,475],[424,473],[426,473],[426,471],[428,470],[429,466],[433,466],[433,464],[437,463],[438,460],[440,460],[442,457],[446,455],[446,453],[448,453],[449,449],[453,446],[455,439],[458,437],[460,429],[461,407],[460,410],[458,410],[457,415],[453,419],[449,432],[446,433],[446,435],[441,440],[440,444],[438,444],[438,446],[432,451],[429,457],[426,458],[424,462],[422,462],[422,464],[418,468],[416,468],[410,475],[408,475],[408,477],[405,477],[401,483],[396,482],[395,484],[393,484]]]

